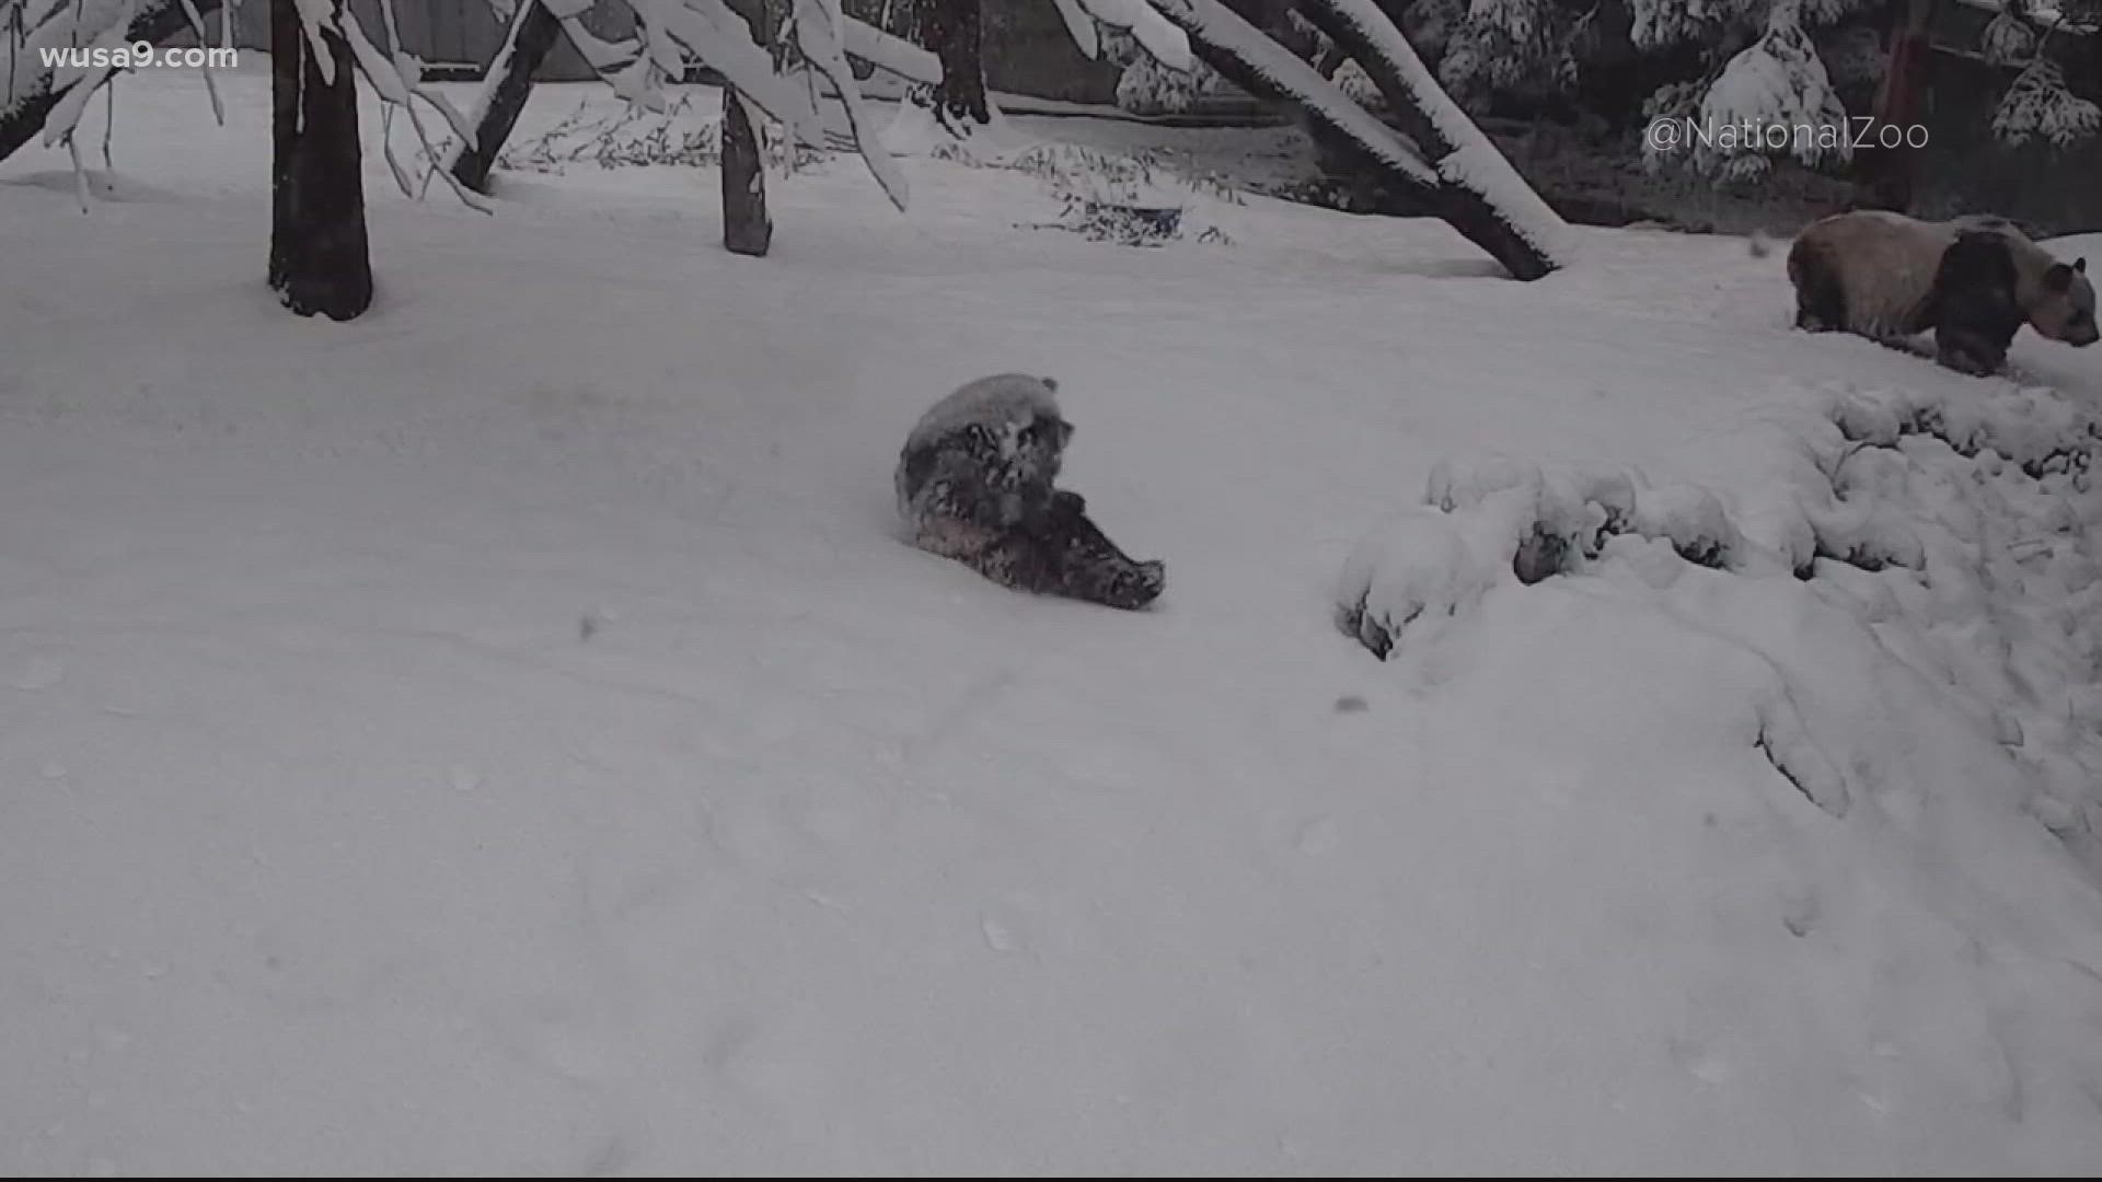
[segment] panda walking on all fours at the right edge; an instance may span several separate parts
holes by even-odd
[[[1797,328],[1883,343],[1932,328],[1936,360],[1967,374],[1997,372],[2024,322],[2052,341],[2096,343],[2087,259],[2064,263],[1997,217],[1833,215],[1795,238],[1789,282]]]

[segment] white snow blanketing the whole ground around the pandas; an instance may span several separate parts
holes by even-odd
[[[370,151],[305,322],[267,80],[124,86],[90,212],[0,164],[0,1169],[2102,1167],[2102,351],[925,158],[753,261],[713,170]],[[898,541],[998,370],[1154,610]]]

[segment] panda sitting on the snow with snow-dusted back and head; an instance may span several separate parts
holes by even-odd
[[[1116,549],[1078,492],[1053,488],[1072,440],[1055,393],[1051,379],[994,374],[937,402],[898,456],[898,511],[912,545],[1003,587],[1143,608],[1165,566]]]

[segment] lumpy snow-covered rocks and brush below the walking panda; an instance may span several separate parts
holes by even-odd
[[[1871,730],[1928,717],[1888,700],[1902,679],[1932,688],[2012,761],[2024,808],[2102,869],[2096,412],[2035,387],[1797,402],[1717,442],[1713,463],[1679,456],[1717,471],[1715,484],[1501,456],[1440,463],[1425,503],[1352,551],[1337,625],[1389,660],[1404,635],[1438,648],[1492,595],[1585,576],[1589,591],[1732,635],[1768,663],[1778,681],[1747,715],[1757,747],[1827,812],[1843,816],[1850,780],[1890,749]],[[1614,660],[1583,635],[1537,656]],[[1799,711],[1804,700],[1825,705]],[[1833,726],[1862,715],[1881,721]]]

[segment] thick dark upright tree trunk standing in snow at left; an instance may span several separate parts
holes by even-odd
[[[296,0],[271,0],[269,286],[298,315],[353,320],[372,307],[357,82],[343,36],[328,29],[322,46],[326,82]]]

